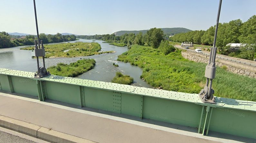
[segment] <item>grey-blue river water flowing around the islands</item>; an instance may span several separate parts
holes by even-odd
[[[92,42],[92,40],[79,39],[77,41],[70,41],[70,43],[74,42]],[[128,51],[127,47],[117,47],[114,45],[109,45],[108,43],[102,43],[101,40],[96,40],[101,45],[101,51],[116,51],[115,53],[105,53],[100,55],[92,55],[86,57],[77,57],[77,58],[46,58],[45,66],[53,66],[59,62],[63,62],[65,64],[69,64],[71,62],[75,62],[80,60],[80,58],[90,58],[96,61],[96,65],[93,69],[89,70],[82,75],[79,75],[77,78],[81,79],[89,79],[95,81],[104,81],[111,82],[111,79],[115,76],[117,71],[122,72],[125,75],[130,75],[134,78],[133,85],[152,88],[149,84],[147,84],[143,79],[140,79],[140,75],[142,74],[142,69],[130,65],[129,63],[123,63],[117,61],[118,55],[123,52]],[[67,43],[67,42],[62,42]],[[56,44],[56,43],[52,43]],[[0,49],[0,68],[8,68],[14,70],[22,70],[28,72],[37,71],[36,59],[32,59],[34,56],[34,52],[31,50],[20,50],[22,47],[29,46],[19,46],[13,48],[5,48]],[[40,65],[42,66],[42,59],[39,59]],[[113,63],[118,64],[119,67],[114,67]]]

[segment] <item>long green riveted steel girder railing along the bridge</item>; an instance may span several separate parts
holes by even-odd
[[[256,139],[256,102],[216,97],[205,104],[198,94],[148,89],[50,75],[34,78],[34,73],[0,68],[4,91],[53,99],[81,107],[137,116],[198,128],[208,134],[217,131]]]

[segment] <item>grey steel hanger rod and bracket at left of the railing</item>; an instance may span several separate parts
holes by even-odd
[[[36,24],[36,32],[37,32],[37,40],[35,40],[35,56],[36,56],[36,62],[37,62],[37,72],[35,73],[34,77],[41,78],[47,75],[51,75],[50,72],[46,70],[45,68],[45,62],[44,62],[44,56],[45,56],[45,50],[43,46],[43,40],[41,40],[42,47],[40,48],[40,40],[39,40],[39,32],[38,32],[38,25],[37,25],[37,16],[36,16],[36,8],[35,8],[35,0],[34,1],[34,11],[35,11],[35,24]],[[38,44],[38,46],[37,46]],[[39,57],[43,57],[43,67],[39,67]]]

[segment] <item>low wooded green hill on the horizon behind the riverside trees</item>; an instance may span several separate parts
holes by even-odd
[[[164,31],[164,34],[166,34],[167,36],[170,36],[170,35],[175,35],[175,34],[178,34],[178,33],[185,33],[185,32],[189,32],[189,31],[192,31],[190,29],[187,29],[187,28],[161,28],[163,31]],[[115,32],[114,34],[116,36],[121,36],[121,35],[124,35],[125,33],[134,33],[134,34],[138,34],[139,32],[142,32],[143,34],[147,33],[148,30],[134,30],[134,31],[118,31],[118,32]]]

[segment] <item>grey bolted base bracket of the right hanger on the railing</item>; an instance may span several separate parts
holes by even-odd
[[[199,93],[199,97],[202,102],[204,103],[210,103],[210,104],[216,104],[215,97],[213,96],[214,90],[211,89],[211,95],[208,97],[208,86],[204,86],[204,89],[202,89]]]

